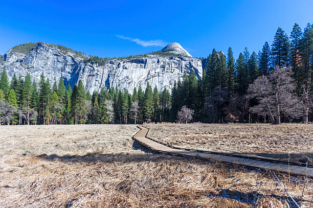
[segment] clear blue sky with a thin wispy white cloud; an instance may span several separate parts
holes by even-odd
[[[99,57],[158,51],[179,42],[192,56],[235,58],[270,44],[281,27],[313,22],[313,1],[3,1],[0,54],[24,42],[61,44]]]

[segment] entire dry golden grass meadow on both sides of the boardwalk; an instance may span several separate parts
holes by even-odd
[[[176,146],[312,150],[301,125],[282,128],[286,138],[265,125],[149,126],[151,137]],[[265,170],[154,154],[131,139],[137,131],[135,125],[0,126],[0,207],[295,207],[283,184],[302,207],[311,201],[311,179],[276,173],[277,180]],[[273,135],[288,147],[275,148],[275,139],[267,141]]]

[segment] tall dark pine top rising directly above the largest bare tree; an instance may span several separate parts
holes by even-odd
[[[287,34],[278,28],[272,44],[272,56],[274,66],[289,64],[289,39]]]

